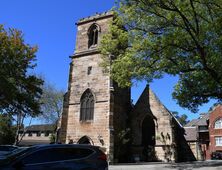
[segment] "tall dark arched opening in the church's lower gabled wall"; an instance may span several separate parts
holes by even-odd
[[[146,116],[142,122],[142,146],[145,161],[155,160],[155,123],[151,116]]]

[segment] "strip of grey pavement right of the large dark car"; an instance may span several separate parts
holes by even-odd
[[[109,170],[222,170],[222,160],[185,163],[135,163],[110,165]]]

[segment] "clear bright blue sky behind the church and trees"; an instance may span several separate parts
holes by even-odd
[[[74,53],[76,26],[80,18],[112,8],[115,0],[4,0],[1,1],[0,24],[24,33],[25,42],[38,45],[35,73],[42,74],[59,89],[67,89],[69,56]],[[177,79],[166,76],[151,83],[152,90],[171,111],[185,113],[189,119],[198,117],[182,109],[172,99],[171,93]],[[136,102],[146,83],[132,88]],[[200,107],[207,112],[212,102]]]

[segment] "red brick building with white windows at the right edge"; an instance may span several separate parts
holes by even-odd
[[[222,152],[222,105],[217,105],[209,117],[209,152]]]

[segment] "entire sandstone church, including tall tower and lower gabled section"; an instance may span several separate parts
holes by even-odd
[[[182,160],[183,128],[149,87],[133,106],[130,89],[119,88],[100,67],[98,46],[112,21],[113,14],[106,12],[76,24],[60,141],[101,146],[110,161],[126,156],[131,161]],[[131,141],[129,145],[124,145],[123,137]]]

